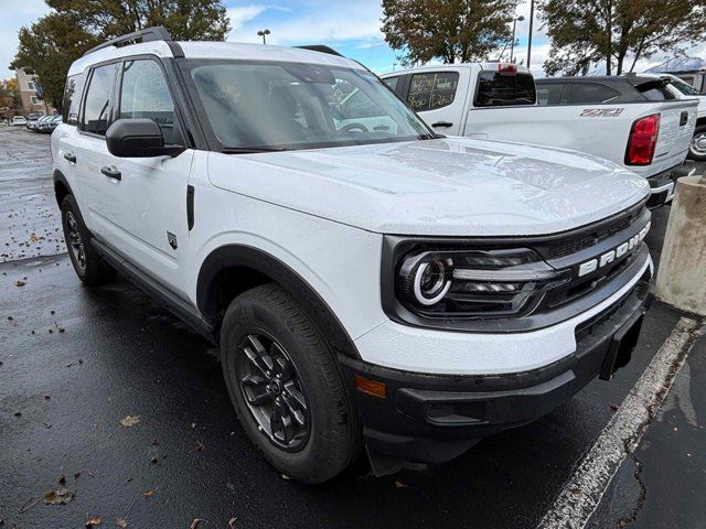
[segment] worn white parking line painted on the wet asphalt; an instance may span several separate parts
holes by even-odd
[[[621,463],[640,444],[684,364],[697,327],[688,317],[677,322],[537,528],[586,526]]]

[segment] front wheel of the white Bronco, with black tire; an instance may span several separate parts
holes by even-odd
[[[221,358],[240,424],[279,472],[322,483],[355,458],[357,420],[335,359],[281,287],[264,284],[231,303]]]

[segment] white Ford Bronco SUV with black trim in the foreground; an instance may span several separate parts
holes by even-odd
[[[218,344],[243,428],[308,483],[363,446],[376,472],[449,461],[624,365],[646,181],[437,136],[314,47],[150,29],[76,61],[52,152],[78,277],[120,272]]]

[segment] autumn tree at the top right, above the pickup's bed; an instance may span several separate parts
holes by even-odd
[[[620,75],[629,58],[632,72],[640,58],[678,53],[706,36],[706,0],[545,0],[539,17],[552,41],[549,75],[577,75],[599,62]]]

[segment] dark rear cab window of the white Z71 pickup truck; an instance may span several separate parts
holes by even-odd
[[[516,72],[481,72],[478,77],[477,107],[534,105],[537,94],[532,74]]]

